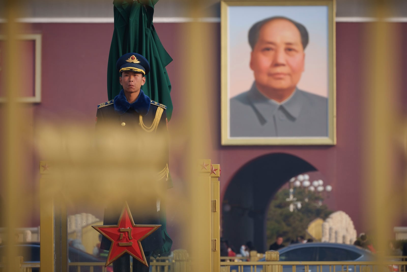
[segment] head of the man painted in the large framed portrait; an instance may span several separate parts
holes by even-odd
[[[294,90],[304,71],[304,58],[300,31],[293,23],[276,19],[261,27],[250,69],[264,90]]]

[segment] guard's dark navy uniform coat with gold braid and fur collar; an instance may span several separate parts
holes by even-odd
[[[168,141],[167,137],[167,118],[166,106],[159,104],[144,94],[140,90],[140,95],[137,100],[130,104],[124,95],[123,89],[114,97],[113,100],[98,105],[96,113],[96,133],[102,133],[105,129],[117,129],[118,131],[130,132],[134,134],[134,142],[138,141],[138,135],[145,133],[160,133],[164,134],[164,141]],[[142,119],[140,119],[140,115]],[[149,134],[151,135],[151,134]],[[168,143],[164,144],[166,150],[163,150],[164,155],[160,156],[158,165],[160,169],[160,178],[168,180]],[[168,187],[172,187],[171,181],[166,182]],[[154,188],[152,186],[151,188]],[[137,188],[131,188],[137,190]],[[134,194],[136,196],[136,193]],[[169,252],[172,245],[172,240],[166,232],[166,218],[164,203],[160,203],[160,211],[157,212],[157,203],[155,199],[149,203],[143,203],[145,213],[148,217],[140,217],[137,215],[138,208],[136,205],[131,206],[129,199],[123,199],[123,203],[117,205],[109,205],[105,209],[103,225],[117,225],[121,210],[125,204],[125,200],[129,202],[129,208],[135,224],[154,224],[162,225],[158,230],[150,234],[142,240],[142,248],[144,252],[166,253]],[[123,204],[123,205],[122,205]],[[146,211],[147,209],[147,211]],[[111,242],[102,237],[101,248],[109,250]]]

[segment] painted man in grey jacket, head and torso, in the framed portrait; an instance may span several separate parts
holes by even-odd
[[[230,99],[230,137],[327,137],[328,99],[297,88],[306,28],[278,16],[255,23],[248,36],[254,82]]]

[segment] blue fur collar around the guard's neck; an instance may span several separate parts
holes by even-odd
[[[142,90],[140,90],[140,95],[138,95],[136,101],[133,103],[127,102],[125,97],[125,92],[123,89],[120,91],[116,97],[114,97],[114,110],[119,114],[123,115],[129,108],[135,110],[138,114],[145,116],[149,112],[150,109],[150,97],[144,94]]]

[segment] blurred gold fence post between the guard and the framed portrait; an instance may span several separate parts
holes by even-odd
[[[208,24],[198,21],[201,17],[200,10],[202,1],[199,0],[181,0],[182,4],[189,9],[188,17],[193,18],[193,22],[185,24],[184,44],[182,54],[184,56],[184,100],[186,103],[183,110],[184,128],[182,137],[188,138],[186,148],[188,187],[190,197],[190,224],[188,226],[188,253],[190,254],[193,271],[210,272],[214,271],[213,263],[217,259],[217,253],[212,252],[212,248],[219,248],[219,240],[212,241],[211,234],[211,177],[210,163],[205,175],[197,178],[197,163],[199,158],[210,156],[207,154],[212,135],[210,135],[209,120],[213,114],[210,111],[209,102],[216,101],[215,96],[212,100],[208,97],[215,90],[214,78],[208,77],[204,72],[204,66],[216,65],[212,56],[211,45],[213,32],[210,31]],[[199,102],[199,106],[195,102]],[[213,118],[213,120],[215,120]],[[201,163],[201,162],[199,162]],[[200,169],[200,168],[199,168]],[[219,203],[218,203],[219,205]],[[219,252],[219,250],[217,250]],[[219,257],[220,259],[220,257]],[[217,271],[219,268],[217,268]]]

